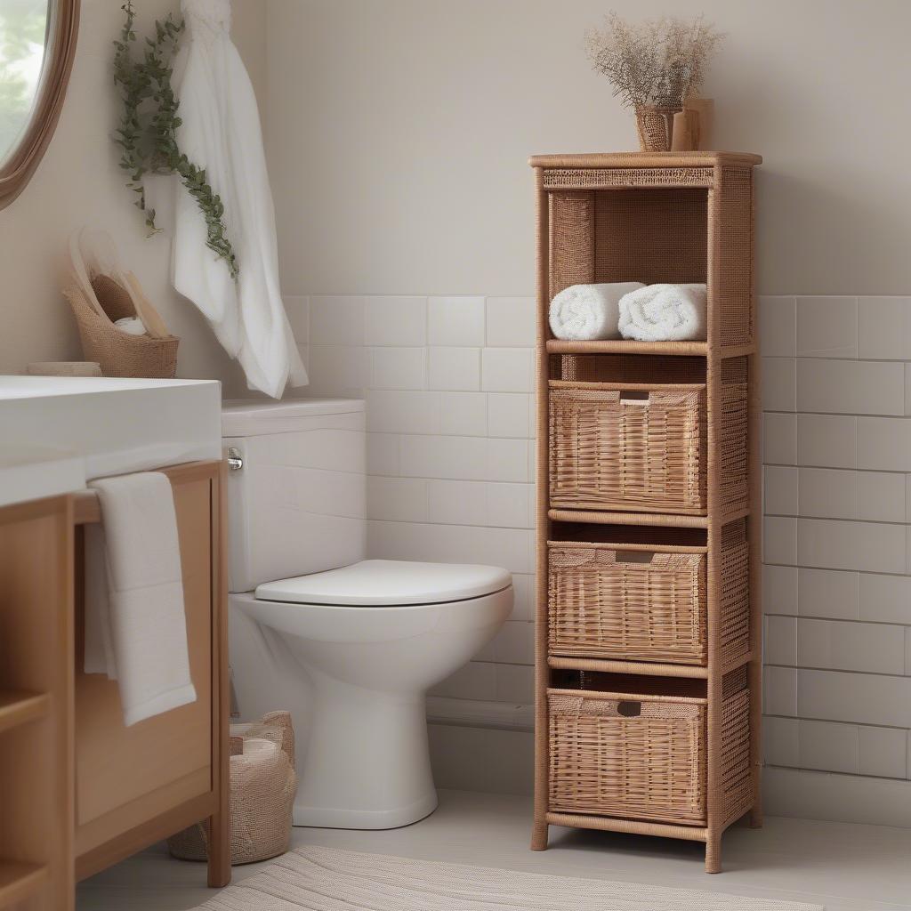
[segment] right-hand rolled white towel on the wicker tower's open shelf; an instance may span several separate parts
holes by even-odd
[[[639,342],[704,342],[707,301],[704,284],[646,285],[620,300],[620,334]]]

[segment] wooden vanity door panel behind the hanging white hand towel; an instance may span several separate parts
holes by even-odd
[[[164,474],[174,490],[189,662],[197,700],[125,727],[117,682],[108,681],[103,674],[83,672],[80,533],[76,560],[77,878],[217,810],[219,770],[213,755],[218,755],[220,724],[227,723],[218,698],[223,616],[219,465],[195,463]]]

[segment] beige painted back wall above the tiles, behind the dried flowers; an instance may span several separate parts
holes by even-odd
[[[634,148],[587,26],[702,10],[717,148],[761,152],[760,291],[911,290],[906,0],[269,0],[288,293],[533,290],[534,152]]]

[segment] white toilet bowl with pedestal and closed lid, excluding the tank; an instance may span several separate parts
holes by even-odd
[[[425,692],[491,639],[512,601],[505,570],[394,560],[236,600],[312,684],[294,824],[387,829],[434,811]]]

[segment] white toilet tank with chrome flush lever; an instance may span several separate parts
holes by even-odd
[[[226,402],[229,589],[348,566],[366,556],[363,401]]]

